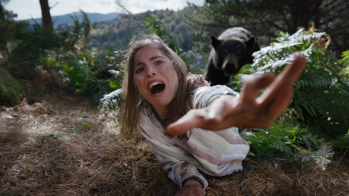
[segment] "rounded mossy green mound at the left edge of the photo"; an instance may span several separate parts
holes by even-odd
[[[0,67],[0,105],[16,105],[22,100],[23,95],[22,85],[5,68]]]

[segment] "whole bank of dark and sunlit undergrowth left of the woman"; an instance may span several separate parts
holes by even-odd
[[[35,65],[42,65],[44,70],[55,76],[60,86],[69,86],[76,93],[91,96],[98,105],[105,93],[121,88],[118,75],[110,70],[119,71],[119,63],[125,51],[108,47],[97,51],[88,50],[87,43],[91,25],[85,13],[83,21],[73,17],[74,26],[69,29],[52,31],[38,24],[16,32],[17,42],[11,53],[12,65],[26,67],[27,73],[19,78],[31,80],[35,76]],[[24,64],[25,63],[25,64]],[[10,70],[23,70],[23,67],[10,67]],[[22,73],[24,73],[22,71]],[[30,74],[29,74],[30,73]]]

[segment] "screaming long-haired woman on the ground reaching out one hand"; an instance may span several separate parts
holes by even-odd
[[[183,60],[156,35],[134,42],[126,63],[121,133],[138,127],[161,167],[179,184],[176,195],[204,195],[208,183],[199,170],[214,176],[242,170],[249,146],[237,127],[271,125],[289,104],[305,60],[296,59],[278,77],[252,78],[240,95],[187,74]]]

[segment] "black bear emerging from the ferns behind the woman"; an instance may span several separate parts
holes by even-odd
[[[211,85],[228,85],[245,64],[253,63],[252,53],[259,51],[256,38],[242,27],[225,30],[218,38],[211,36],[206,79]]]

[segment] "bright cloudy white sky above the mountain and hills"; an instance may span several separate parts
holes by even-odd
[[[147,10],[171,9],[181,10],[187,6],[187,2],[195,5],[203,5],[205,0],[49,0],[51,16],[59,16],[79,12],[109,14],[122,12],[117,5],[119,1],[132,14],[146,12]],[[15,20],[41,18],[39,0],[9,0],[2,6],[18,16]]]

